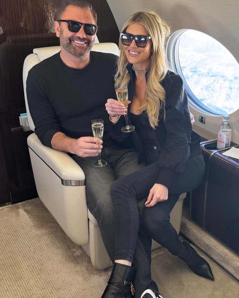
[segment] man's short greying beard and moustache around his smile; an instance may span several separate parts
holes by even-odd
[[[84,47],[74,46],[74,41],[86,42],[87,44]],[[77,58],[84,58],[88,55],[90,50],[93,48],[95,43],[95,38],[93,40],[89,40],[87,38],[79,38],[79,37],[64,37],[63,34],[60,34],[60,44],[61,46],[71,55]]]

